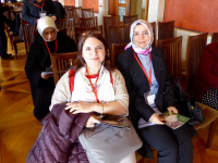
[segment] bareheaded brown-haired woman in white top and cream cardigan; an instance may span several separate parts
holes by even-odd
[[[66,103],[65,109],[73,114],[95,112],[128,115],[129,96],[124,78],[118,70],[109,67],[106,62],[106,41],[96,33],[83,33],[80,38],[73,92],[70,90],[70,75],[66,72],[56,86],[50,110],[57,103]],[[94,127],[95,123],[99,121],[93,115],[86,127]],[[135,154],[129,155],[122,162],[134,163]]]

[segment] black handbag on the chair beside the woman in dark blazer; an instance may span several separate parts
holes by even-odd
[[[181,87],[180,82],[177,76],[171,77],[171,83],[173,86],[173,92],[178,103],[178,111],[180,114],[190,117],[187,122],[189,125],[195,125],[205,121],[202,114],[202,108],[190,97],[184,89]]]

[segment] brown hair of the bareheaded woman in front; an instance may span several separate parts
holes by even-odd
[[[87,33],[87,32],[86,32]],[[83,66],[85,66],[85,60],[83,59],[83,46],[86,41],[87,38],[96,38],[98,39],[99,41],[101,41],[104,43],[104,47],[105,47],[105,51],[106,51],[106,58],[107,58],[107,42],[105,40],[105,38],[102,37],[102,35],[100,34],[95,34],[94,32],[89,32],[87,33],[87,35],[82,35],[81,38],[78,39],[78,47],[77,47],[77,64],[76,64],[76,68],[75,68],[75,72],[74,74]],[[111,72],[112,68],[110,67],[110,65],[108,64],[108,62],[106,61],[106,58],[105,58],[105,62],[104,62],[104,66],[109,71]],[[73,74],[73,75],[74,75]]]

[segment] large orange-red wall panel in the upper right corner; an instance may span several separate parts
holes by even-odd
[[[175,27],[203,32],[218,32],[217,0],[166,0],[165,22],[175,21]]]

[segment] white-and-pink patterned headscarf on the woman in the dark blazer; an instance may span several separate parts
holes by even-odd
[[[150,40],[149,40],[149,43],[145,48],[140,48],[134,43],[133,32],[134,32],[134,27],[136,25],[144,25],[148,30]],[[125,47],[125,50],[129,49],[130,47],[132,47],[134,49],[134,51],[138,54],[148,54],[152,51],[152,43],[153,43],[153,40],[154,40],[153,26],[150,25],[150,23],[145,21],[145,20],[135,21],[131,25],[131,28],[130,28],[130,40],[131,40],[131,42]]]

